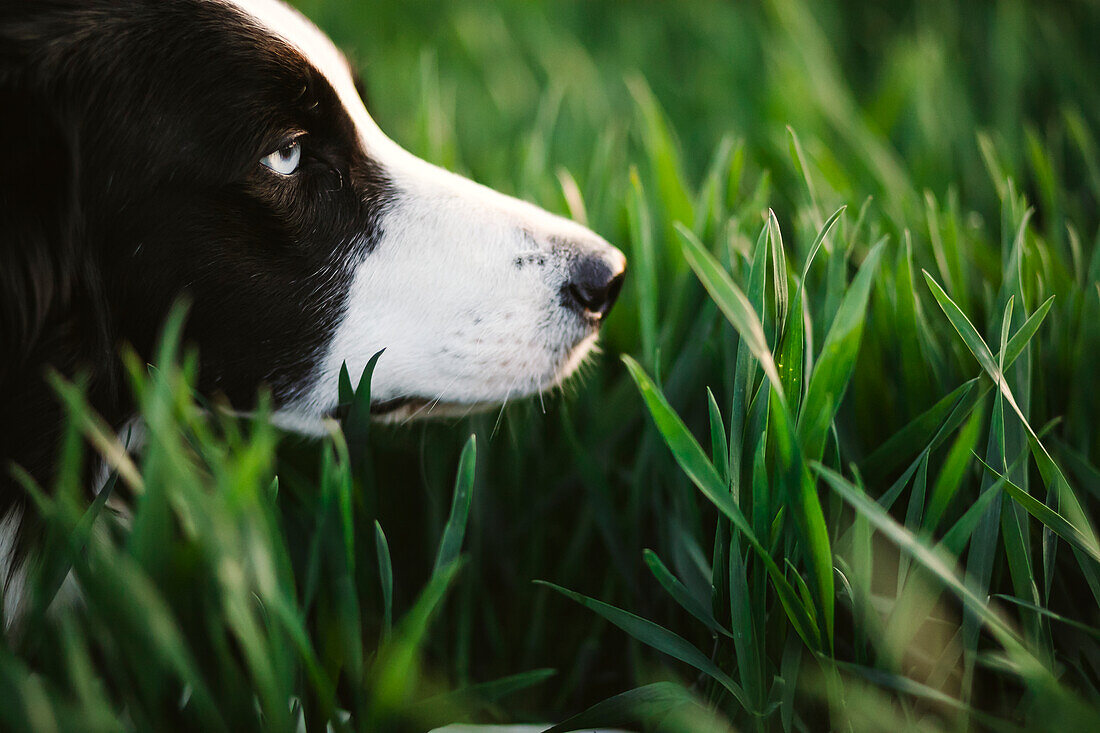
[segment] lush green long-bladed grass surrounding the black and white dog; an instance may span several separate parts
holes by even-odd
[[[1094,3],[298,4],[398,142],[627,253],[603,353],[311,442],[170,321],[131,529],[29,489],[0,727],[1100,730]]]

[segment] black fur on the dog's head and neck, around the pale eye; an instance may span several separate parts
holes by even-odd
[[[297,133],[297,174],[258,163]],[[46,370],[120,426],[119,346],[180,296],[201,391],[289,397],[393,196],[317,69],[219,0],[0,0],[0,518],[11,462],[52,481]]]

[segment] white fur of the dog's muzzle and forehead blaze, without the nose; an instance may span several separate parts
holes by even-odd
[[[598,258],[618,273],[623,253],[573,221],[406,152],[371,119],[346,61],[321,31],[279,0],[232,1],[324,75],[363,151],[396,189],[374,250],[349,263],[346,307],[312,382],[278,422],[320,430],[336,406],[341,364],[358,380],[382,349],[372,397],[449,404],[451,412],[534,394],[568,376],[595,341],[595,328],[562,305],[569,266]]]

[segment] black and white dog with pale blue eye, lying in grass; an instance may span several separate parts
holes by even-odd
[[[430,165],[374,123],[332,42],[280,0],[0,0],[0,573],[52,482],[82,374],[116,430],[119,346],[186,296],[199,391],[320,434],[385,349],[373,412],[464,414],[559,384],[623,284],[585,227]],[[94,491],[94,489],[90,489]]]

